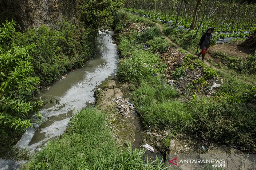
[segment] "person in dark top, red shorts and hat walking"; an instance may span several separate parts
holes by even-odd
[[[214,28],[208,28],[206,33],[204,33],[200,39],[200,42],[197,45],[197,49],[200,47],[201,52],[198,54],[198,58],[202,54],[202,61],[204,60],[204,56],[206,55],[206,50],[209,48],[211,37],[213,36],[211,33],[214,31]]]

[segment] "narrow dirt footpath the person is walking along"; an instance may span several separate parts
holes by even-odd
[[[178,44],[174,43],[169,37],[167,37],[167,36],[164,34],[164,32],[163,32],[163,27],[162,27],[161,24],[159,24],[159,23],[157,23],[157,22],[154,22],[154,23],[157,25],[157,27],[160,28],[160,31],[161,31],[161,33],[162,33],[162,35],[163,35],[164,38],[166,38],[170,43],[176,45],[178,48],[182,48],[182,47],[180,47]],[[183,48],[182,48],[182,49],[183,49]],[[188,54],[191,54],[191,55],[197,57],[197,55],[192,54],[191,52],[187,51],[186,49],[183,49],[183,50],[185,50]],[[206,53],[206,57],[205,57],[204,59],[206,60],[206,58],[212,58],[212,57],[211,57],[208,53]],[[215,69],[216,71],[219,71],[219,70],[220,70],[220,69],[218,69],[218,68],[212,66],[209,62],[207,62],[207,61],[205,61],[205,60],[204,60],[204,63],[205,63],[207,66],[209,66],[209,67]],[[222,72],[224,72],[225,74],[230,75],[228,72],[225,72],[225,71],[223,71],[223,70],[222,70]],[[242,81],[244,81],[245,83],[250,84],[250,85],[253,84],[253,83],[248,82],[248,81],[243,80],[243,79],[240,79],[240,80],[242,80]]]

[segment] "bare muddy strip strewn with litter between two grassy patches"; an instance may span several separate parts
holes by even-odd
[[[165,160],[166,149],[161,145],[161,138],[170,134],[170,130],[157,131],[144,129],[136,106],[129,101],[131,90],[129,83],[119,82],[116,77],[103,83],[96,91],[96,106],[103,111],[109,121],[114,138],[122,145],[131,141],[132,148],[142,149],[146,143],[154,152],[146,150],[145,156]]]

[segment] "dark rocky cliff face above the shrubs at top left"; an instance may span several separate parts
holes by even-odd
[[[0,23],[13,19],[24,30],[51,26],[63,18],[74,22],[76,4],[76,0],[0,0]]]

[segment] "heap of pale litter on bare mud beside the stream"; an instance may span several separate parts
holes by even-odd
[[[130,112],[135,112],[135,106],[130,103],[128,100],[123,99],[121,96],[118,96],[112,102],[116,102],[117,110],[122,114],[125,118],[131,117]]]

